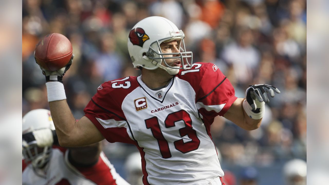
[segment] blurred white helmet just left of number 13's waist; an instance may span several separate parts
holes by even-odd
[[[142,162],[139,152],[131,153],[125,162],[127,182],[134,185],[143,185]]]

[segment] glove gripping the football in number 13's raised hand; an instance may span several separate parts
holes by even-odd
[[[63,83],[63,76],[66,73],[66,71],[70,68],[70,66],[72,65],[73,58],[74,58],[74,54],[72,54],[72,57],[71,57],[70,61],[67,63],[67,65],[57,71],[49,71],[39,65],[40,69],[42,70],[42,74],[46,76],[46,82],[58,81],[58,82]],[[37,60],[36,60],[36,63],[37,63]]]

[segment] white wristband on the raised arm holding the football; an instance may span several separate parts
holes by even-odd
[[[48,102],[66,99],[64,85],[61,82],[47,82]]]

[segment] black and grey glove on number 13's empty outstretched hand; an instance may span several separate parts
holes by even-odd
[[[251,85],[247,90],[246,90],[246,100],[248,104],[251,106],[252,111],[254,113],[259,112],[259,108],[257,108],[256,102],[269,102],[267,93],[271,96],[274,97],[275,93],[280,93],[278,88],[271,86],[271,85],[266,85],[266,84],[256,84],[256,85]]]

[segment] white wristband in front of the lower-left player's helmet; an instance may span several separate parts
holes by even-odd
[[[35,130],[33,135],[39,147],[52,146],[54,143],[53,132],[49,128]]]

